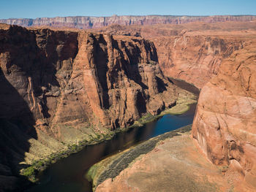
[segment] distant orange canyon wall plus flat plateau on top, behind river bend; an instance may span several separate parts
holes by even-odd
[[[140,36],[154,42],[167,77],[203,88],[222,60],[256,37],[256,22],[187,23],[178,26],[108,26],[94,31]]]

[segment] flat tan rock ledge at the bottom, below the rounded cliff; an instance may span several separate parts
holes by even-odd
[[[96,192],[229,191],[231,188],[187,133],[159,142],[154,150],[136,158],[117,177],[99,184]]]

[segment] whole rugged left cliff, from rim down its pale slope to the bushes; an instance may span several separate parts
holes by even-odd
[[[34,160],[187,94],[163,76],[154,44],[137,37],[2,24],[0,66],[0,188]]]

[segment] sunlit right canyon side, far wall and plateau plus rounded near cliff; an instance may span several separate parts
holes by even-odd
[[[211,162],[226,167],[223,173],[236,191],[256,188],[255,24],[108,26],[98,30],[150,39],[165,76],[203,88],[192,135]]]

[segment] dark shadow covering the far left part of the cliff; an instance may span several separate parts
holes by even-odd
[[[57,70],[64,67],[70,78],[78,34],[10,26],[0,30],[0,37],[0,189],[23,191],[29,181],[19,171],[27,167],[21,163],[30,139],[38,139],[35,122],[50,118],[47,97],[61,87]],[[12,184],[10,177],[15,178]]]

